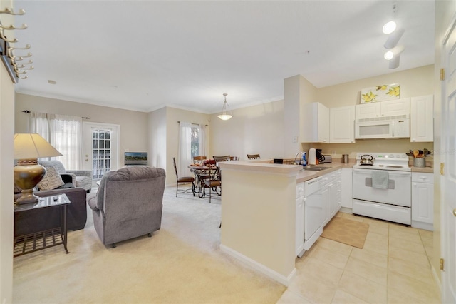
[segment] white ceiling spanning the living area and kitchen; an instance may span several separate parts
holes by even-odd
[[[388,69],[381,29],[405,29]],[[317,88],[434,63],[434,1],[14,1],[33,71],[16,92],[202,113],[277,101],[284,78]],[[1,17],[1,16],[0,16]],[[24,51],[24,53],[27,51]],[[17,50],[15,55],[21,56]],[[56,81],[49,84],[48,80]],[[375,85],[376,83],[373,83]]]

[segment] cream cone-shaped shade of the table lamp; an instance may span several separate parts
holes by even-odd
[[[14,159],[61,156],[50,143],[36,133],[14,134]]]

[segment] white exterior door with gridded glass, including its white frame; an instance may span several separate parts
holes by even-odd
[[[93,172],[94,180],[119,166],[119,126],[83,123],[83,167]]]

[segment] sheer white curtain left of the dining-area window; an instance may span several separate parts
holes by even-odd
[[[179,123],[179,157],[177,158],[177,174],[191,176],[188,166],[192,163],[192,124],[185,121]]]

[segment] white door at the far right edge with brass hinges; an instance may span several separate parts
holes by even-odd
[[[442,303],[456,303],[456,31],[451,30],[443,43],[445,81],[442,82],[442,163],[441,221],[442,258],[445,266],[442,273]]]

